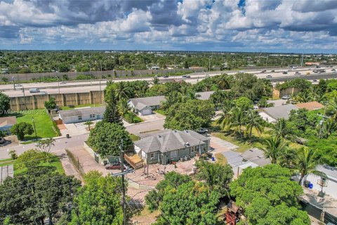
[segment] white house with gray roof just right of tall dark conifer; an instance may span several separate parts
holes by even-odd
[[[138,115],[151,115],[153,110],[160,108],[163,101],[165,101],[165,96],[130,98],[128,105]]]

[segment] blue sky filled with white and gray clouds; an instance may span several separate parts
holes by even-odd
[[[0,49],[336,53],[336,0],[0,0]]]

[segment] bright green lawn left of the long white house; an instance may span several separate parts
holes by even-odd
[[[37,127],[37,138],[52,138],[57,136],[56,132],[53,130],[53,122],[46,110],[25,110],[22,111],[21,114],[16,115],[16,120],[18,123],[27,122],[32,124],[34,129],[32,117],[34,117],[35,127]],[[34,139],[35,133],[25,136],[25,141]]]

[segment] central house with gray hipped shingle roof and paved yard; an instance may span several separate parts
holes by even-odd
[[[134,142],[136,153],[147,164],[166,165],[172,160],[192,158],[209,150],[209,137],[195,131],[166,129]]]

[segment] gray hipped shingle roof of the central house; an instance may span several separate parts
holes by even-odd
[[[198,134],[195,131],[173,131],[171,129],[163,131],[161,134],[147,136],[139,141],[135,141],[135,146],[138,146],[145,153],[153,153],[160,151],[166,153],[171,150],[177,150],[188,146],[199,146],[208,141],[208,137]]]

